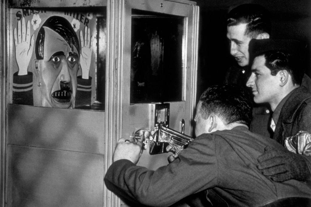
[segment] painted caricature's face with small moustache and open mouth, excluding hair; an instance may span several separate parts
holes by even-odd
[[[70,108],[77,92],[78,51],[55,31],[46,27],[44,30],[44,58],[37,61],[41,106]]]

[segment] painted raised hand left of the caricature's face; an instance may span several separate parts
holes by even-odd
[[[27,21],[25,26],[25,18],[17,22],[16,28],[13,30],[15,43],[15,57],[18,66],[18,75],[27,75],[28,65],[32,55],[32,50],[35,42],[34,35],[30,38],[30,22]],[[31,42],[30,42],[31,41]]]

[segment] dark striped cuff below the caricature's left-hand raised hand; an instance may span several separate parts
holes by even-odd
[[[34,98],[32,92],[32,73],[27,75],[18,75],[18,72],[13,74],[12,87],[12,103],[22,105],[34,105]]]

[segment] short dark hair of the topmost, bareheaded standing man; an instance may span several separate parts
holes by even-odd
[[[247,23],[245,35],[255,38],[261,33],[271,33],[270,13],[258,4],[241,4],[227,16],[227,26]]]

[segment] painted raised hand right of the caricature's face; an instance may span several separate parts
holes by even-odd
[[[80,30],[80,42],[81,42],[80,66],[82,70],[82,79],[89,79],[92,45],[93,45],[93,38],[90,33],[91,33],[90,28],[85,26],[83,38],[83,32]]]

